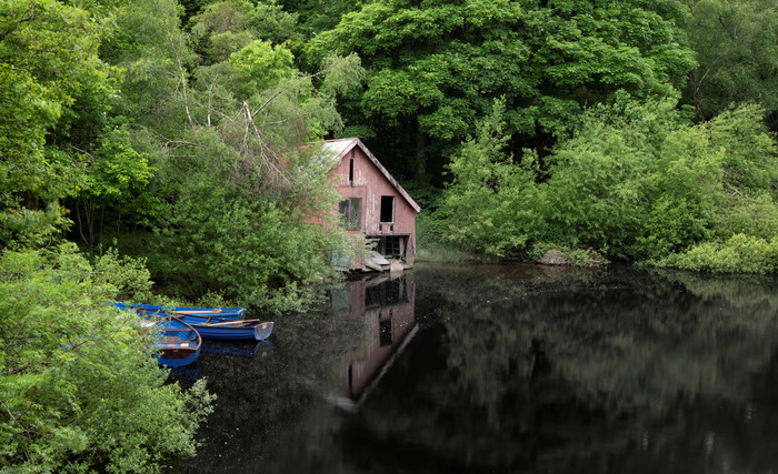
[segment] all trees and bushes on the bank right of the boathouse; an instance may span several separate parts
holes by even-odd
[[[341,103],[348,130],[438,189],[420,199],[430,253],[559,248],[774,272],[777,13],[759,1],[377,0],[308,51],[362,58],[362,93]],[[729,258],[736,235],[766,250]]]

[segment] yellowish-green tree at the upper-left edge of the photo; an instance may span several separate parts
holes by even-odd
[[[110,89],[97,57],[102,27],[61,2],[3,0],[0,31],[0,245],[42,244],[67,225],[59,200],[78,183],[46,135],[80,91]]]

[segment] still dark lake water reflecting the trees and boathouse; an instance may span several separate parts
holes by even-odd
[[[388,276],[277,321],[272,346],[203,354],[217,410],[172,470],[778,472],[776,279]]]

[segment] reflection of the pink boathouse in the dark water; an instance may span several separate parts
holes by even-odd
[[[415,300],[412,272],[371,275],[332,291],[336,314],[367,326],[362,349],[348,356],[348,365],[338,374],[338,405],[359,406],[413,339],[419,330],[413,320]]]

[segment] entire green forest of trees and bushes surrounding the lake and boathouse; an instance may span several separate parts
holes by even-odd
[[[776,273],[777,34],[767,0],[0,0],[0,468],[192,454],[212,395],[106,301],[305,309],[351,249],[326,139],[422,256]]]

